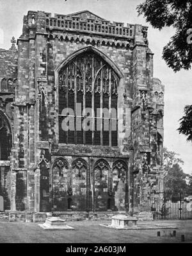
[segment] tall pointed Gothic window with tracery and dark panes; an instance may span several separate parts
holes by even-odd
[[[59,72],[59,142],[117,146],[119,77],[93,51]]]

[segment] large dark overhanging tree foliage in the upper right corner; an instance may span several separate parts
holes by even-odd
[[[163,48],[163,59],[173,69],[190,69],[192,47],[187,42],[187,31],[192,28],[191,0],[146,0],[137,6],[138,14],[143,14],[146,21],[161,30],[173,26],[176,32]]]

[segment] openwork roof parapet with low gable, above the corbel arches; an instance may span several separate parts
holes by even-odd
[[[48,12],[29,11],[26,17],[26,25],[29,28],[37,26],[39,21],[48,30],[62,30],[63,32],[89,33],[91,35],[102,35],[102,37],[118,37],[118,39],[134,39],[136,36],[136,24],[124,24],[120,22],[111,23],[88,10],[74,14],[54,14],[51,17]],[[141,26],[141,25],[138,25]],[[147,27],[141,26],[143,41],[147,39]]]

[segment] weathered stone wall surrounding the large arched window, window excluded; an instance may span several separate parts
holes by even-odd
[[[0,70],[18,78],[12,210],[148,210],[150,190],[161,187],[164,87],[153,78],[147,28],[110,23],[90,12],[51,17],[30,11],[17,44],[18,73],[16,57],[10,69]],[[14,47],[0,56],[16,56]],[[120,78],[117,147],[59,143],[58,74],[88,51]]]

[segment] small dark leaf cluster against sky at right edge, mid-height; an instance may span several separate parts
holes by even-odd
[[[186,105],[185,115],[180,118],[179,133],[188,136],[187,140],[192,141],[192,105]]]

